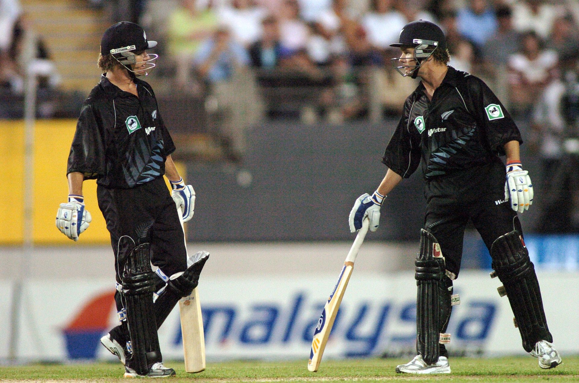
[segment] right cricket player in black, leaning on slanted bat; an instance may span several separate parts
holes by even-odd
[[[534,194],[519,157],[518,128],[481,79],[447,65],[450,55],[437,25],[423,20],[406,24],[391,46],[401,50],[392,59],[397,71],[421,81],[406,98],[384,152],[386,176],[372,196],[356,200],[349,223],[356,231],[368,217],[375,231],[384,198],[422,162],[427,208],[415,261],[417,355],[396,372],[450,373],[446,327],[468,220],[489,249],[493,275],[504,285],[523,348],[542,369],[556,367],[561,357],[552,345],[517,216],[529,209]],[[500,156],[506,156],[506,164]]]

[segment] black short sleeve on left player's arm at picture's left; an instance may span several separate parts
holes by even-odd
[[[71,151],[68,154],[67,175],[80,172],[85,179],[96,179],[105,175],[105,150],[94,106],[85,104],[80,109]]]

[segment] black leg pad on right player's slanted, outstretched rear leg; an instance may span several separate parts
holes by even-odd
[[[552,342],[537,274],[521,233],[513,230],[501,235],[493,242],[490,255],[515,314],[525,351],[531,352],[538,341]]]

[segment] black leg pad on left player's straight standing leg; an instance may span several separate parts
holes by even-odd
[[[136,246],[130,252],[123,271],[123,301],[129,327],[131,356],[126,367],[145,375],[155,363],[162,362],[153,311],[153,292],[157,277],[151,270],[150,244]]]

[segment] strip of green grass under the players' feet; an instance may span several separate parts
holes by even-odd
[[[451,358],[452,374],[395,374],[402,359],[324,360],[317,373],[307,371],[305,360],[299,362],[224,362],[208,363],[207,370],[187,374],[183,363],[168,362],[177,371],[177,382],[316,382],[316,381],[452,381],[455,382],[578,382],[579,356],[563,356],[563,364],[552,370],[541,370],[537,360],[527,357],[497,359]],[[122,378],[120,363],[99,364],[31,364],[0,367],[0,381],[43,382],[116,382]]]

